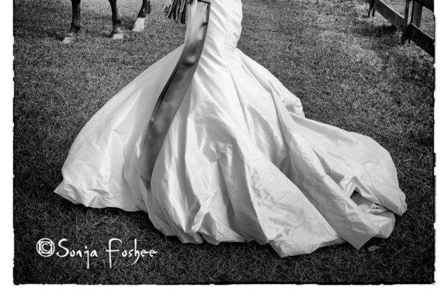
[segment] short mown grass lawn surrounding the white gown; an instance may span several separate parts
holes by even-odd
[[[389,239],[281,259],[269,246],[182,244],[145,213],[70,204],[53,190],[76,134],[130,80],[183,41],[184,26],[154,2],[147,29],[130,31],[140,0],[119,1],[123,41],[107,38],[107,1],[83,1],[83,29],[64,45],[69,0],[16,0],[14,15],[15,283],[432,283],[434,280],[433,59],[363,0],[243,0],[239,48],[301,98],[308,118],[367,134],[395,161],[408,211]],[[110,238],[158,254],[117,258],[40,257],[36,241],[69,239],[98,250]],[[371,246],[379,249],[369,251]]]

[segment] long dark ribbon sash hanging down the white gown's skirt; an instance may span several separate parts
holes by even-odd
[[[139,173],[144,184],[151,188],[151,176],[172,120],[189,89],[205,43],[210,17],[210,1],[192,0],[188,5],[189,19],[184,50],[168,82],[157,99],[142,141]]]

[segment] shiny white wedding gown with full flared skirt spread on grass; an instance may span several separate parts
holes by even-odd
[[[203,17],[203,1],[194,2],[190,17]],[[368,136],[307,119],[299,99],[236,48],[241,1],[210,2],[196,71],[174,117],[157,115],[166,135],[149,138],[150,150],[160,147],[149,181],[142,143],[187,41],[88,121],[55,192],[85,206],[146,211],[182,242],[257,241],[282,257],[388,237],[393,213],[406,210],[389,153]],[[186,36],[197,33],[190,23]]]

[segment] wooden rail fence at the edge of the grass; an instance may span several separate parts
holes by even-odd
[[[402,43],[414,41],[416,45],[434,57],[434,38],[420,28],[422,7],[434,12],[434,0],[403,0],[405,15],[400,15],[391,6],[381,0],[365,0],[369,3],[367,16],[375,15],[375,10],[386,18],[393,26],[402,31]]]

